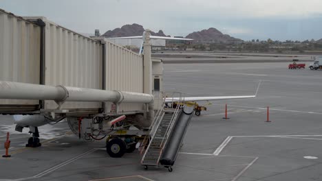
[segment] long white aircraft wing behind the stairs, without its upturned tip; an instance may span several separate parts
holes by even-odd
[[[214,96],[214,97],[184,97],[182,101],[215,101],[224,99],[247,99],[255,98],[256,95],[239,95],[239,96]],[[167,97],[165,102],[179,101],[180,97]]]

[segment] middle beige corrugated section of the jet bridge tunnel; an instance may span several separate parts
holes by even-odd
[[[45,26],[45,84],[102,89],[103,46],[50,21]],[[45,108],[56,108],[45,101]],[[101,108],[99,102],[66,102],[63,109]]]

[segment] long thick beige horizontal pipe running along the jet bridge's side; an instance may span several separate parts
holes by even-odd
[[[110,101],[116,104],[142,103],[149,104],[153,95],[131,93],[120,90],[98,90],[69,86],[45,86],[20,82],[0,81],[0,99],[36,99],[64,101]]]

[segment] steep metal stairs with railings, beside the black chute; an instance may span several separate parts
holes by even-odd
[[[181,103],[181,99],[178,100],[178,105]],[[181,112],[180,106],[176,106],[173,109],[164,109],[164,104],[155,114],[153,123],[150,127],[150,134],[144,138],[142,143],[143,148],[141,153],[144,152],[142,156],[141,164],[144,165],[144,169],[148,166],[159,165],[160,157],[164,151],[164,146],[169,140],[169,136],[173,131],[173,125],[178,119],[178,115]]]

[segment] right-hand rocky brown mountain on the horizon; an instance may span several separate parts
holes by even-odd
[[[203,29],[200,32],[193,32],[186,36],[186,38],[192,38],[198,43],[228,43],[241,41],[241,39],[234,38],[228,34],[222,34],[222,32],[219,32],[219,30],[214,27]]]

